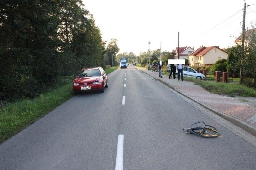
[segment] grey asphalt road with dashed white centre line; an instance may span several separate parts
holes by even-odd
[[[255,169],[256,148],[207,111],[128,67],[0,145],[0,169]],[[222,137],[183,132],[193,122]]]

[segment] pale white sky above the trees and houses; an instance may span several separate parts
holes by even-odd
[[[245,28],[255,28],[256,0],[245,0]],[[83,0],[102,39],[117,39],[119,53],[179,46],[234,46],[242,32],[244,0]],[[150,45],[148,42],[150,41]]]

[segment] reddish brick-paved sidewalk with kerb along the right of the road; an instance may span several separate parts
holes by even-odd
[[[237,100],[234,97],[210,93],[200,85],[193,82],[177,81],[178,79],[169,79],[168,76],[159,77],[159,72],[151,72],[146,68],[136,67],[136,69],[152,76],[154,79],[164,83],[178,93],[194,100],[200,105],[206,107],[212,112],[220,115],[236,126],[256,136],[256,98],[245,97],[243,100]],[[250,102],[247,101],[250,100]]]

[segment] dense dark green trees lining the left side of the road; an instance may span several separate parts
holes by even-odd
[[[105,67],[105,42],[82,1],[5,1],[1,5],[3,102],[37,97],[56,87],[59,77],[84,67]],[[69,11],[65,17],[63,11]]]

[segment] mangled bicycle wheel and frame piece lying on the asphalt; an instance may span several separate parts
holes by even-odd
[[[215,127],[206,125],[204,122],[195,122],[190,128],[184,128],[183,130],[186,133],[192,133],[205,138],[221,137],[219,131]]]

